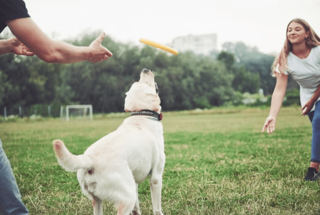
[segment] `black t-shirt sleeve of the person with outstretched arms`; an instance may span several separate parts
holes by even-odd
[[[22,0],[0,0],[0,32],[7,26],[5,21],[30,17]]]

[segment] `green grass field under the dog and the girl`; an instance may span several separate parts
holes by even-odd
[[[276,131],[262,134],[269,109],[164,113],[164,215],[319,215],[320,181],[305,182],[311,123],[299,107],[282,108]],[[30,214],[92,214],[76,173],[64,171],[52,149],[62,139],[82,154],[115,130],[127,114],[92,122],[50,119],[0,123],[0,138]],[[139,187],[142,214],[151,215],[148,180]],[[116,214],[104,201],[104,214]]]

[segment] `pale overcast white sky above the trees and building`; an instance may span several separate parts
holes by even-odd
[[[217,33],[218,48],[242,41],[278,52],[294,18],[320,35],[320,0],[24,0],[29,15],[53,39],[101,30],[115,41],[163,44],[188,34]],[[108,48],[108,47],[107,47]]]

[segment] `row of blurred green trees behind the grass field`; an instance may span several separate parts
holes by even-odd
[[[98,36],[89,33],[68,41],[88,46]],[[272,93],[274,56],[260,53],[244,43],[225,43],[223,51],[210,56],[192,52],[174,56],[150,47],[113,41],[102,45],[113,56],[101,63],[45,63],[34,57],[0,56],[0,115],[37,104],[60,107],[92,104],[94,113],[122,112],[125,92],[139,80],[143,68],[153,70],[164,111],[211,108],[225,102],[241,103],[242,93]]]

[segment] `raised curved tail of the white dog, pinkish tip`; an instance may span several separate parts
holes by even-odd
[[[69,152],[61,140],[52,142],[53,149],[61,167],[69,172],[76,172],[79,169],[88,169],[92,167],[92,158],[87,155],[74,155]]]

